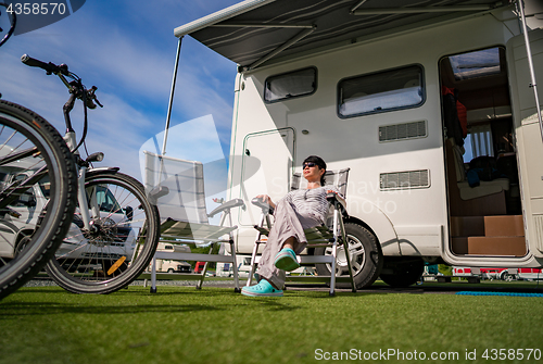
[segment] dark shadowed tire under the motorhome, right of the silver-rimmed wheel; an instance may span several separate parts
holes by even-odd
[[[425,261],[419,258],[391,258],[384,260],[382,281],[392,287],[408,287],[418,281],[425,272]]]

